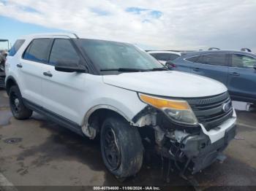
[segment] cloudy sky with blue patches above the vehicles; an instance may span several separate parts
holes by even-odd
[[[255,18],[256,0],[0,0],[0,39],[75,32],[148,50],[256,52]]]

